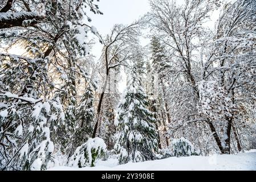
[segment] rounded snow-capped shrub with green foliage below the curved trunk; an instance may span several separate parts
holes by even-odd
[[[76,148],[74,155],[68,160],[70,167],[94,167],[95,160],[104,156],[107,146],[101,138],[89,138],[82,146]]]

